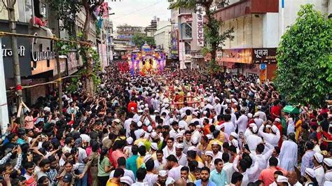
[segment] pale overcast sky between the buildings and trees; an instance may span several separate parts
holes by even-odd
[[[112,8],[110,20],[113,26],[120,24],[130,24],[132,26],[146,27],[150,24],[154,16],[160,17],[160,20],[168,20],[171,17],[171,11],[168,10],[167,0],[116,0],[109,1]]]

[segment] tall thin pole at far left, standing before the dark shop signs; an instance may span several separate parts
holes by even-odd
[[[9,29],[11,33],[16,34],[16,20],[15,20],[15,3],[16,0],[7,0],[6,9],[8,11],[8,22]],[[22,85],[21,85],[21,75],[20,75],[20,61],[18,59],[18,38],[16,36],[11,36],[11,48],[13,50],[13,70],[14,70],[14,80],[15,80],[15,93],[16,93],[16,106],[18,106],[18,115],[20,115],[20,124],[25,124],[25,118],[23,117],[22,109],[20,110],[20,103],[22,100]],[[22,107],[22,106],[21,106]]]

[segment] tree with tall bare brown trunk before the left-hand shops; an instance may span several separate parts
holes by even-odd
[[[98,6],[101,6],[104,3],[104,0],[51,0],[50,8],[53,8],[57,13],[57,18],[62,20],[62,22],[69,24],[74,24],[76,20],[76,14],[80,10],[85,10],[85,22],[83,28],[83,37],[81,37],[82,41],[89,41],[90,34],[90,21],[92,18],[92,14],[95,12]],[[102,15],[101,15],[102,16]],[[72,26],[72,25],[71,25]],[[70,25],[64,25],[64,27],[71,27]],[[67,28],[70,29],[70,28]],[[96,74],[94,74],[92,62],[92,47],[91,46],[81,46],[81,53],[83,57],[83,61],[85,64],[85,90],[90,93],[95,93],[95,85],[94,80],[97,79]]]

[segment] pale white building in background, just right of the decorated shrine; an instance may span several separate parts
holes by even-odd
[[[172,24],[170,20],[160,21],[157,20],[157,31],[155,31],[155,46],[160,48],[160,50],[164,50],[164,52],[170,56],[170,36],[172,31]]]

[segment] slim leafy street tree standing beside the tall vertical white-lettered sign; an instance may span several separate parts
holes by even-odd
[[[211,54],[211,60],[209,62],[210,71],[217,71],[220,69],[219,65],[216,64],[216,51],[223,50],[223,46],[225,45],[226,39],[233,40],[234,36],[232,33],[234,29],[226,29],[221,33],[219,32],[219,28],[221,28],[224,24],[222,20],[217,20],[214,12],[216,8],[222,8],[228,5],[228,0],[188,0],[188,1],[176,1],[170,4],[170,9],[173,8],[191,8],[194,9],[196,6],[200,4],[203,8],[205,8],[205,18],[206,22],[204,22],[204,35],[205,35],[205,43],[208,43],[207,47],[203,48],[203,55],[207,53]]]

